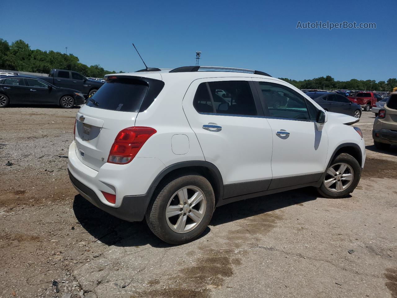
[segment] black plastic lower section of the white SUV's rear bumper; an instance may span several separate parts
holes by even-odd
[[[154,187],[150,187],[148,193],[145,195],[123,197],[120,207],[114,208],[102,203],[95,192],[91,190],[91,188],[85,186],[83,183],[73,177],[69,170],[68,172],[70,182],[73,184],[74,188],[85,199],[87,199],[87,201],[99,209],[102,209],[103,211],[125,221],[142,221],[145,217],[146,209],[148,207],[150,198],[152,197]]]

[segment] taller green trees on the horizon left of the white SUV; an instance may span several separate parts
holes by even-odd
[[[79,58],[73,54],[32,50],[29,44],[21,39],[10,45],[0,38],[0,69],[48,74],[53,68],[73,70],[86,77],[104,77],[106,74],[116,74],[115,71],[105,70],[99,64],[87,66],[79,62]]]

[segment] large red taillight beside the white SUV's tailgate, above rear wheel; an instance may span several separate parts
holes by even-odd
[[[157,131],[154,128],[133,126],[117,134],[110,149],[108,163],[126,164],[133,160],[149,137]]]

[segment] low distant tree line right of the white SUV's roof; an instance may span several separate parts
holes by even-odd
[[[299,89],[321,89],[321,90],[366,90],[366,91],[393,91],[397,87],[397,79],[390,78],[386,82],[375,80],[358,80],[351,79],[350,81],[335,81],[333,77],[327,75],[326,77],[316,77],[303,81],[296,81],[280,77],[283,81],[294,85]]]

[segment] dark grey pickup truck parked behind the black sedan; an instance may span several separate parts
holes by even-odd
[[[87,79],[78,72],[70,70],[53,69],[48,77],[39,77],[40,79],[55,85],[56,87],[69,88],[78,90],[86,97],[94,95],[96,91],[104,84],[102,82]]]

